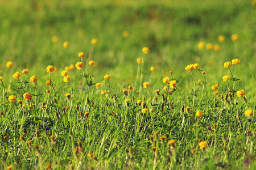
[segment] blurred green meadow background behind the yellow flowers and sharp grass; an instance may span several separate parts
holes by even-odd
[[[253,96],[255,14],[252,1],[245,0],[0,0],[0,74],[7,79],[27,67],[39,79],[46,77],[49,64],[61,71],[80,60],[79,52],[88,58],[90,40],[97,38],[93,59],[98,66],[88,70],[96,81],[108,73],[117,84],[134,82],[136,59],[143,55],[143,46],[148,46],[151,52],[146,56],[144,75],[151,75],[155,82],[160,83],[169,70],[181,79],[187,75],[184,67],[197,62],[207,71],[209,86],[222,83],[222,76],[229,74],[223,63],[240,58],[238,88]],[[123,31],[129,36],[123,37]],[[230,39],[234,33],[240,37],[235,42]],[[220,35],[226,37],[222,43]],[[52,36],[58,37],[56,43]],[[70,42],[68,48],[63,48],[64,41]],[[200,41],[219,44],[221,50],[199,50]],[[7,61],[14,66],[6,68]],[[155,73],[151,74],[150,66],[156,67]],[[72,78],[76,79],[75,74]],[[189,83],[186,76],[180,86],[190,90]]]

